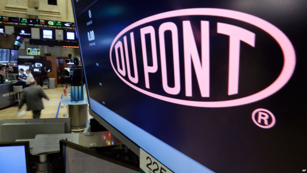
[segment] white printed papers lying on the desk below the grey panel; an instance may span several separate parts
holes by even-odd
[[[60,151],[61,139],[67,139],[69,142],[79,144],[79,133],[36,135],[32,155]]]

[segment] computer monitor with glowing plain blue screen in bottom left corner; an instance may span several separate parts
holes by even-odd
[[[30,173],[29,141],[0,142],[1,173]]]

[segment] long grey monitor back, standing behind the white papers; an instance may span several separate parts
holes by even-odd
[[[0,142],[56,133],[71,133],[71,118],[0,120]]]

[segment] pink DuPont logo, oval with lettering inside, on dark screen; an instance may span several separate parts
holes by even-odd
[[[252,63],[250,57],[261,61]],[[286,85],[296,63],[290,40],[276,26],[250,14],[213,8],[174,10],[134,22],[113,40],[110,60],[117,76],[133,89],[195,107],[233,107],[265,99]],[[272,61],[280,68],[262,74]]]

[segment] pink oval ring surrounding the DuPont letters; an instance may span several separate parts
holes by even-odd
[[[270,86],[268,86],[262,91],[259,91],[258,93],[255,93],[253,95],[249,95],[249,96],[246,96],[240,99],[226,100],[226,101],[214,101],[214,102],[181,100],[181,99],[174,99],[174,98],[170,98],[170,97],[166,97],[162,95],[157,95],[157,94],[151,93],[149,91],[143,90],[141,88],[138,88],[137,86],[132,85],[130,82],[126,81],[124,78],[122,78],[122,76],[119,75],[119,73],[116,71],[113,65],[113,62],[112,62],[112,49],[113,49],[115,42],[123,34],[125,34],[129,30],[137,26],[140,26],[148,22],[153,22],[156,20],[164,19],[164,18],[171,18],[171,17],[178,17],[178,16],[190,16],[190,15],[206,15],[206,16],[232,18],[232,19],[243,21],[243,22],[247,22],[251,25],[254,25],[266,31],[278,42],[279,46],[282,49],[282,52],[284,55],[284,65],[282,68],[282,72]],[[253,103],[253,102],[265,99],[266,97],[273,95],[275,92],[280,90],[284,85],[286,85],[286,83],[290,80],[293,74],[293,71],[295,69],[295,64],[296,64],[295,52],[294,52],[294,48],[290,40],[276,26],[270,24],[269,22],[266,22],[265,20],[261,18],[255,17],[250,14],[246,14],[246,13],[238,12],[234,10],[225,10],[225,9],[217,9],[217,8],[192,8],[192,9],[168,11],[168,12],[164,12],[160,14],[155,14],[153,16],[143,18],[137,22],[134,22],[133,24],[123,29],[114,38],[111,44],[111,48],[110,48],[110,60],[111,60],[111,65],[115,73],[119,76],[119,78],[123,82],[125,82],[127,85],[129,85],[133,89],[143,94],[146,94],[148,96],[151,96],[153,98],[156,98],[156,99],[164,100],[164,101],[171,102],[171,103],[186,105],[186,106],[194,106],[194,107],[233,107],[233,106],[244,105],[244,104]]]

